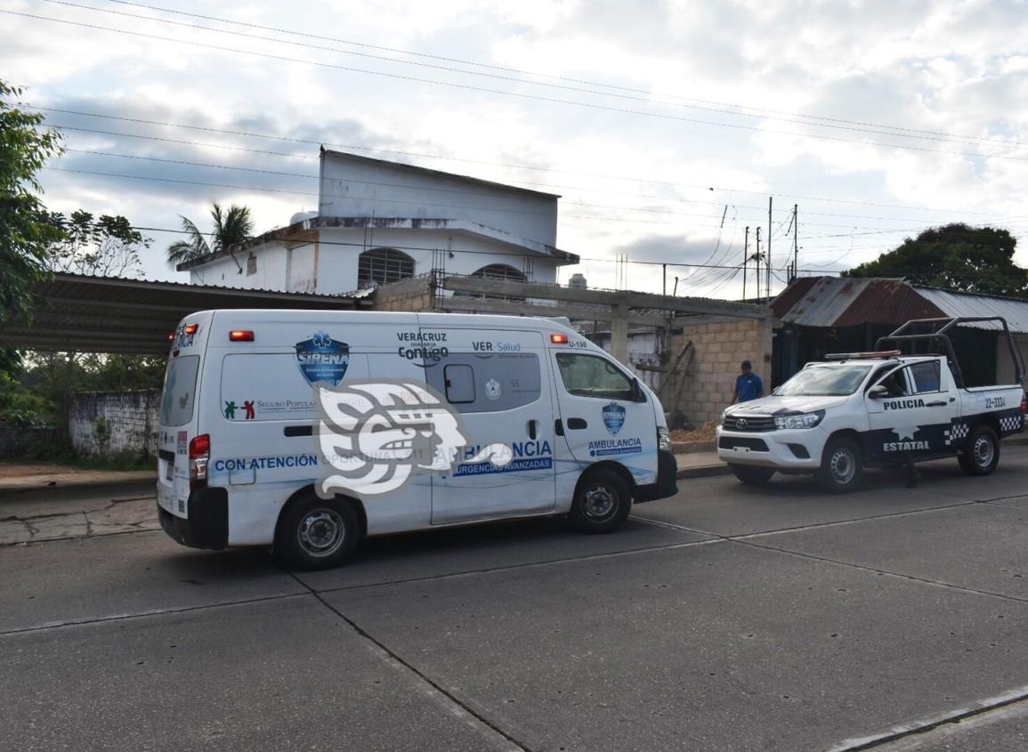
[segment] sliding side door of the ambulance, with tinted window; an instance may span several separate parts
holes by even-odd
[[[423,327],[426,382],[466,440],[432,477],[432,524],[554,507],[553,394],[539,332]]]

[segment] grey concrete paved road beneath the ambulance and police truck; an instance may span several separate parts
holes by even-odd
[[[829,497],[682,483],[311,574],[160,532],[0,547],[0,748],[1021,750],[1028,447]]]

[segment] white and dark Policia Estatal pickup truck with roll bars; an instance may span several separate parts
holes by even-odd
[[[1001,329],[1017,383],[965,387],[950,334],[961,324]],[[929,354],[903,354],[901,349]],[[988,475],[999,440],[1024,427],[1024,365],[1002,318],[908,322],[875,352],[810,363],[769,397],[722,415],[718,456],[747,484],[776,473],[813,473],[829,492],[851,490],[867,466],[955,456],[964,473]]]

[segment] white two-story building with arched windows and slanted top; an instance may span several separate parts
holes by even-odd
[[[555,283],[559,196],[321,151],[318,212],[180,265],[200,285],[340,294],[432,270]]]

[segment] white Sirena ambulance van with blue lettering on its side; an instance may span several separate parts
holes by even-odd
[[[610,532],[677,490],[657,397],[542,318],[197,312],[172,335],[158,439],[169,535],[299,568],[505,518]]]

